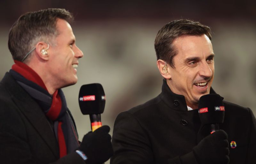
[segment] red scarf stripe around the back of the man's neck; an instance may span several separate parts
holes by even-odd
[[[47,88],[44,85],[43,80],[40,78],[40,76],[32,69],[30,68],[27,64],[24,64],[22,62],[19,62],[17,60],[14,60],[14,63],[12,65],[12,70],[18,72],[21,74],[24,78],[36,83],[37,85],[41,86],[44,88],[47,92]]]

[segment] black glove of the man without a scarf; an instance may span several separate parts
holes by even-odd
[[[193,148],[199,164],[228,164],[228,135],[223,130],[217,130],[208,135]]]

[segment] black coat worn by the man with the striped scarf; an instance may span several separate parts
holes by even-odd
[[[84,164],[76,153],[59,159],[59,146],[42,109],[7,72],[0,83],[1,164]]]

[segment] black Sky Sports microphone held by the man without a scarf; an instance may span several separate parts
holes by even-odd
[[[219,124],[224,121],[225,107],[219,94],[201,96],[198,103],[198,113],[201,123],[211,124],[211,134],[220,130]]]

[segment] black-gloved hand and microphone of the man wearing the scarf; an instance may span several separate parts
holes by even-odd
[[[113,155],[110,128],[102,126],[100,114],[105,108],[105,93],[100,84],[87,84],[80,88],[79,106],[84,115],[90,115],[92,131],[84,135],[79,150],[87,156],[87,164],[99,164]]]

